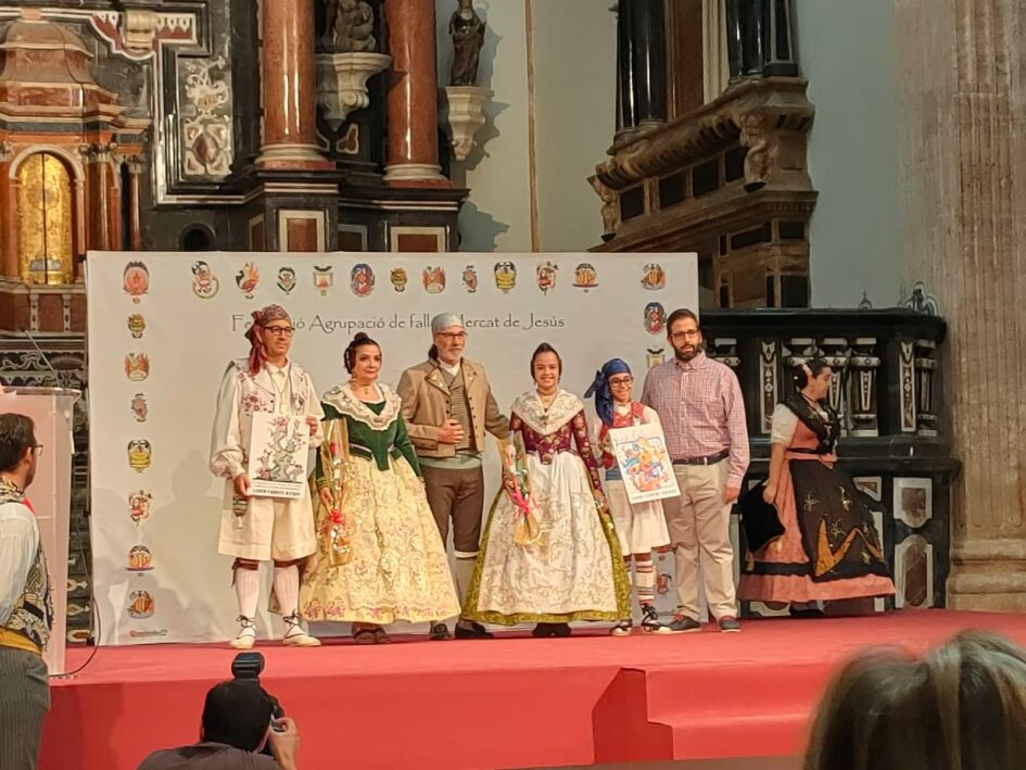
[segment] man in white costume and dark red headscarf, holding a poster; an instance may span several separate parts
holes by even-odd
[[[211,471],[226,479],[218,552],[233,556],[232,575],[239,602],[236,649],[249,649],[256,640],[256,604],[261,561],[275,563],[274,594],[287,630],[282,642],[316,647],[320,642],[303,630],[297,611],[299,565],[317,550],[309,490],[300,500],[251,497],[246,474],[253,414],[306,417],[311,445],[321,442],[324,412],[306,371],[289,359],[292,319],[278,305],[253,313],[245,336],[249,358],[232,361],[217,394],[217,414],[211,440]]]

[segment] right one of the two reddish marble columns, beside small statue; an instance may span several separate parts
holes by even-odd
[[[447,184],[439,165],[434,0],[388,0],[384,13],[392,54],[384,180]]]

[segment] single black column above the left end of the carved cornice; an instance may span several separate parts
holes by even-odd
[[[667,21],[663,0],[628,0],[634,17],[634,90],[637,124],[667,121]]]

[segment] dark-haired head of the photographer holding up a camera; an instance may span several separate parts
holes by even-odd
[[[244,752],[258,752],[267,740],[274,700],[253,679],[215,684],[203,705],[201,737]]]

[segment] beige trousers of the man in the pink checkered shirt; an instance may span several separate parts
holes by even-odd
[[[717,619],[737,617],[731,505],[723,504],[729,468],[725,459],[715,465],[674,465],[681,496],[663,501],[673,543],[677,611],[695,620],[699,617],[699,575],[709,614]]]

